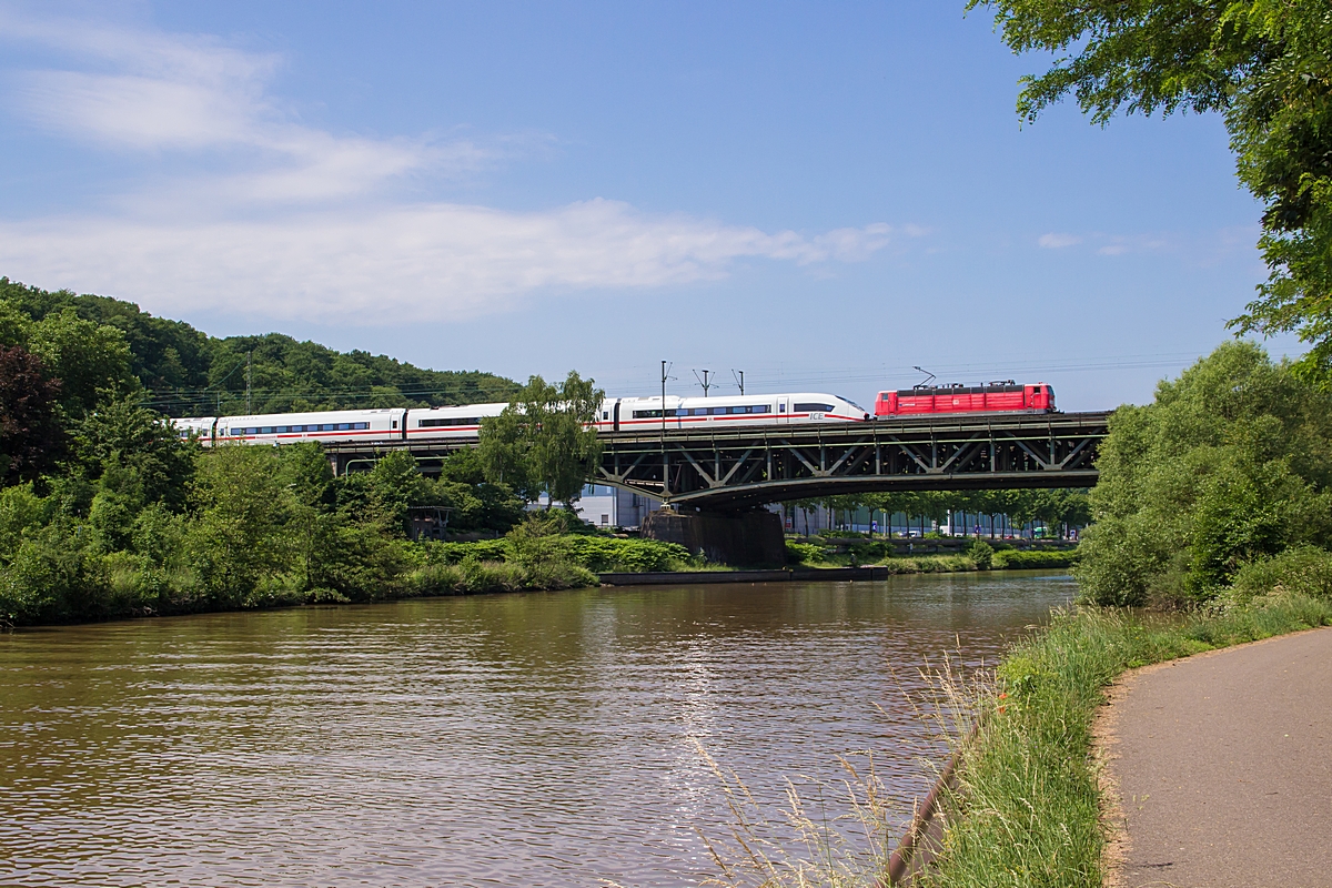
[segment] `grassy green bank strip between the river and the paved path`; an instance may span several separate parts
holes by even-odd
[[[992,684],[972,688],[979,727],[959,742],[948,829],[920,884],[1103,883],[1092,723],[1126,670],[1332,624],[1325,600],[1271,595],[1187,618],[1078,610],[1015,646]]]

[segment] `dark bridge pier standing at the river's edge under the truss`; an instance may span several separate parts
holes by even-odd
[[[643,537],[679,543],[711,562],[737,567],[779,567],[786,563],[782,517],[766,511],[654,511],[643,521]]]

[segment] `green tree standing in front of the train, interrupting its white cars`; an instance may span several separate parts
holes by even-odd
[[[527,379],[503,413],[481,421],[486,478],[509,485],[527,502],[545,493],[547,509],[573,503],[601,457],[591,423],[605,397],[593,379],[575,371],[559,385]]]

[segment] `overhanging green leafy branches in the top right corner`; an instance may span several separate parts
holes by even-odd
[[[1297,332],[1297,365],[1332,375],[1332,15],[1325,0],[970,0],[1015,52],[1055,53],[1022,80],[1035,120],[1072,93],[1094,122],[1120,109],[1220,112],[1240,181],[1263,201],[1269,277],[1231,324]]]

